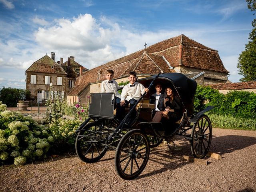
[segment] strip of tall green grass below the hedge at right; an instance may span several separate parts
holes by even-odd
[[[207,114],[213,127],[256,130],[256,119],[234,118],[227,115]]]

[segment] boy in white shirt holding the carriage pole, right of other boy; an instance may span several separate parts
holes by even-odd
[[[144,92],[148,92],[148,88],[145,88],[142,84],[135,82],[137,74],[134,71],[129,73],[129,82],[124,86],[121,93],[121,102],[120,102],[120,114],[124,115],[124,108],[128,106],[130,103],[130,110],[139,100],[139,98],[144,94]],[[124,116],[123,116],[124,117]],[[136,110],[132,112],[129,118],[126,120],[126,124],[130,124],[132,120],[136,117]]]

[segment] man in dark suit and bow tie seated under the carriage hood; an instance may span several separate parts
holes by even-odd
[[[160,83],[156,84],[155,86],[156,93],[150,96],[150,103],[155,104],[156,108],[152,111],[152,115],[156,113],[156,111],[163,111],[164,110],[164,98],[165,94],[162,92],[162,85]]]

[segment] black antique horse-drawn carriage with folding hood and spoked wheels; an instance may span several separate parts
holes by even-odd
[[[211,121],[204,113],[213,107],[194,114],[193,98],[196,81],[180,73],[158,74],[137,80],[149,88],[136,105],[119,122],[114,116],[114,93],[90,94],[89,118],[76,131],[76,153],[87,163],[100,160],[107,150],[116,150],[115,168],[118,175],[126,180],[136,178],[146,167],[150,148],[157,147],[163,139],[175,135],[184,136],[190,141],[191,152],[196,158],[204,158],[212,140]],[[149,96],[154,85],[161,82],[171,87],[182,101],[183,115],[175,123],[168,120],[152,122],[154,104]],[[136,110],[136,119],[130,125],[124,122]]]

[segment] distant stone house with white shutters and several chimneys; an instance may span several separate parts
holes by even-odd
[[[72,59],[71,59],[72,58]],[[52,95],[58,94],[65,97],[72,90],[76,78],[82,71],[87,69],[74,61],[74,57],[68,58],[63,63],[55,62],[55,53],[52,57],[48,55],[34,62],[26,70],[26,90],[29,90],[32,102],[44,102],[50,96],[50,84],[52,84]]]

